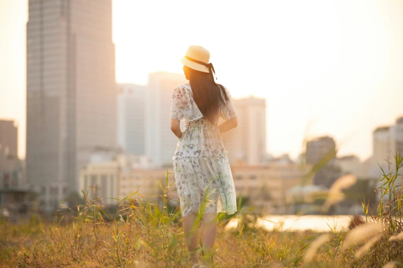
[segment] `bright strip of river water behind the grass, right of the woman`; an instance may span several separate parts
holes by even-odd
[[[258,218],[256,225],[264,227],[267,231],[279,232],[308,230],[313,232],[330,232],[332,228],[337,231],[346,231],[352,218],[352,215],[270,215]],[[364,217],[363,220],[365,221]],[[225,226],[225,229],[235,228],[238,225],[238,222],[238,219],[232,219]]]

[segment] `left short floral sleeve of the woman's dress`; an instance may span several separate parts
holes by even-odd
[[[171,118],[179,121],[194,121],[203,117],[191,95],[190,88],[185,85],[174,88],[170,115]]]

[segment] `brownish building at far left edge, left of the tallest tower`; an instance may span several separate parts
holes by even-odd
[[[0,189],[23,186],[24,162],[18,158],[18,127],[0,120]]]

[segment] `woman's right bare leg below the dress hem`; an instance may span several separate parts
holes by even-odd
[[[206,258],[212,262],[214,240],[217,234],[217,212],[204,214],[202,224],[203,251]]]

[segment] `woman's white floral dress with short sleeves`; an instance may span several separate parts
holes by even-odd
[[[220,108],[219,116],[229,120],[236,113],[231,95],[226,88],[225,91],[230,100]],[[189,83],[173,90],[170,115],[185,121],[172,158],[182,216],[192,212],[234,214],[237,211],[235,185],[218,122],[211,124],[203,117]]]

